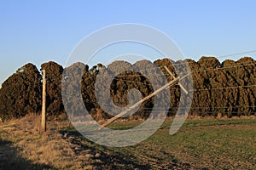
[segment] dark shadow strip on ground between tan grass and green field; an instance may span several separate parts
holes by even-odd
[[[92,165],[96,167],[96,169],[191,169],[189,163],[177,161],[177,159],[171,155],[169,158],[172,161],[165,162],[163,165],[156,165],[157,163],[163,161],[158,157],[154,158],[157,162],[151,162],[150,164],[149,160],[140,160],[139,157],[133,156],[132,152],[122,152],[106,146],[95,144],[90,140],[85,139],[76,130],[62,130],[60,133],[62,133],[64,136],[65,134],[68,134],[68,136],[74,137],[75,140],[73,140],[72,143],[79,144],[84,150],[94,150],[96,153],[100,153],[101,157],[99,159],[102,162],[92,162]]]

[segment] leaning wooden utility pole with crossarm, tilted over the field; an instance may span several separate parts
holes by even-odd
[[[186,75],[183,76],[183,77],[174,77],[174,75],[172,74],[172,72],[169,71],[166,66],[165,66],[165,68],[166,68],[166,71],[168,71],[169,74],[170,74],[170,75],[172,76],[172,78],[173,78],[173,80],[172,80],[171,82],[166,83],[166,85],[164,85],[163,87],[161,87],[161,88],[155,90],[154,93],[149,94],[149,95],[146,96],[145,98],[143,98],[143,99],[141,99],[140,101],[138,101],[136,104],[131,105],[131,107],[128,108],[127,110],[120,112],[118,115],[113,116],[111,119],[108,119],[108,121],[105,122],[104,124],[102,124],[102,126],[99,127],[98,130],[101,130],[103,127],[107,127],[108,124],[110,124],[111,122],[114,122],[116,119],[118,119],[118,118],[121,117],[121,116],[125,116],[125,114],[127,114],[129,111],[132,111],[132,110],[135,109],[138,105],[142,104],[144,101],[146,101],[146,100],[152,98],[155,94],[159,94],[159,93],[160,93],[161,91],[163,91],[164,89],[173,86],[175,83],[177,83],[178,81],[184,79],[185,77],[188,77],[189,74],[191,74],[191,72],[189,72],[188,74],[186,74]],[[182,84],[180,84],[180,83],[178,82],[178,85],[183,89],[183,91],[184,91],[186,94],[189,94],[188,91],[187,91],[185,88],[183,88]]]

